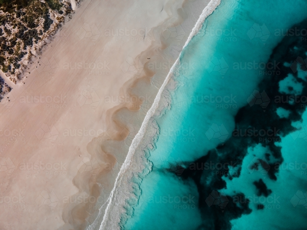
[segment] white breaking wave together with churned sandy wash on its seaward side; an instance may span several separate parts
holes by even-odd
[[[216,9],[219,4],[220,0],[212,0],[208,3],[189,34],[183,48],[185,48],[191,41],[192,37],[198,33],[198,31],[202,28],[204,20]],[[153,142],[159,129],[153,119],[154,117],[160,117],[161,112],[169,107],[169,104],[171,103],[171,98],[169,95],[167,95],[168,93],[166,91],[173,89],[174,82],[172,81],[169,83],[169,81],[176,72],[176,69],[180,67],[180,64],[179,55],[166,76],[161,88],[159,89],[153,105],[147,112],[139,132],[134,137],[132,144],[130,145],[125,162],[123,163],[122,168],[116,178],[115,187],[111,191],[111,197],[108,201],[106,213],[103,216],[99,229],[120,229],[118,224],[123,224],[125,222],[125,218],[129,218],[129,215],[131,215],[131,213],[128,214],[127,209],[129,208],[127,207],[129,205],[127,205],[126,200],[130,199],[131,203],[136,202],[136,204],[139,202],[139,197],[137,195],[140,194],[138,189],[139,184],[138,182],[132,181],[142,180],[142,177],[146,176],[146,174],[148,174],[151,170],[151,163],[149,163],[146,159],[146,149],[153,148],[152,144],[154,144]]]

